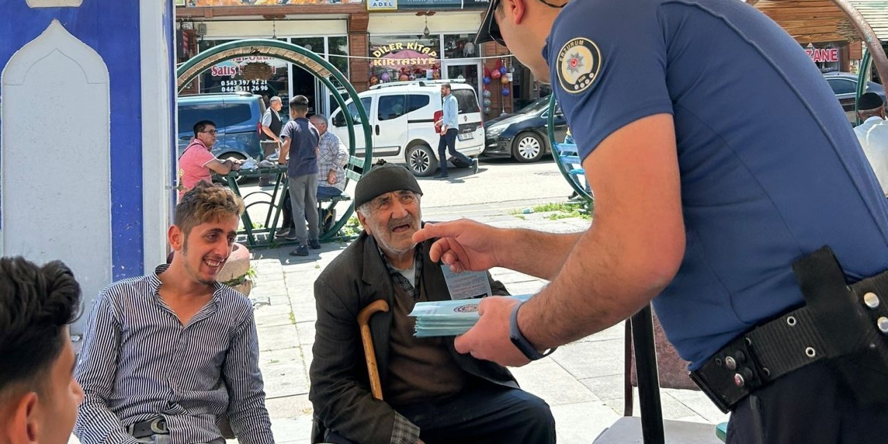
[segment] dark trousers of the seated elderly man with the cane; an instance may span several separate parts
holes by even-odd
[[[446,401],[395,410],[419,427],[419,438],[426,444],[555,442],[555,419],[545,401],[519,389],[487,382]],[[329,432],[325,440],[353,443],[336,432]]]

